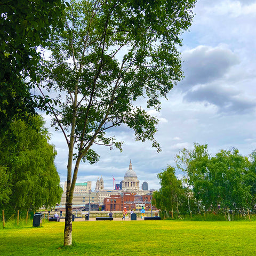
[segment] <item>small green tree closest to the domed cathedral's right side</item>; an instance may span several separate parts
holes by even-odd
[[[179,205],[181,204],[184,190],[181,180],[178,180],[175,176],[174,168],[167,166],[163,172],[157,174],[157,178],[160,180],[161,189],[153,194],[155,206],[164,211],[167,217],[169,212],[171,212],[172,218],[174,212],[180,215]]]

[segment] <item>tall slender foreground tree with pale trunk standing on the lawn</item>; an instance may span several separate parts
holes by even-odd
[[[57,106],[47,113],[68,145],[64,245],[72,243],[72,201],[81,161],[94,163],[92,145],[121,149],[114,127],[133,129],[135,139],[154,139],[157,119],[138,105],[161,109],[161,97],[182,78],[180,34],[191,24],[195,0],[71,1],[54,28],[39,90],[55,92]],[[54,95],[54,96],[55,96]],[[43,99],[42,99],[43,100]],[[74,170],[73,159],[75,159]]]

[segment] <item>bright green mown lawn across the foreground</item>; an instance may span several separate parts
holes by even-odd
[[[64,222],[0,229],[1,255],[256,255],[256,222],[73,222],[74,246],[63,248]]]

